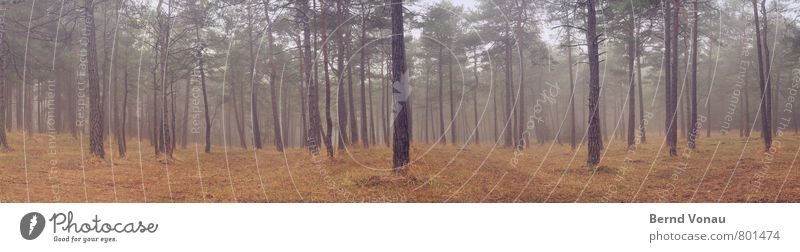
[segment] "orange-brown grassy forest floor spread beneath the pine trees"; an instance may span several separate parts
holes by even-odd
[[[484,143],[412,147],[406,175],[391,172],[391,149],[352,147],[335,159],[305,149],[277,152],[202,144],[178,148],[169,163],[150,143],[128,142],[119,158],[106,143],[104,160],[69,135],[33,135],[0,152],[0,202],[800,202],[793,162],[800,136],[776,138],[764,152],[753,133],[701,137],[696,151],[669,157],[663,138],[628,150],[606,139],[599,168],[586,149],[535,144],[515,152]],[[608,146],[608,145],[607,145]],[[111,152],[114,150],[112,157]],[[197,150],[197,151],[196,151]],[[83,153],[81,152],[83,151]],[[197,154],[199,153],[199,154]],[[83,158],[82,158],[83,157]],[[113,161],[112,161],[113,158]],[[27,174],[27,175],[26,175]]]

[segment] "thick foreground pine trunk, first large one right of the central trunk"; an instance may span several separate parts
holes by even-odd
[[[595,0],[586,2],[586,43],[589,53],[589,156],[586,163],[594,167],[600,163],[603,139],[600,133],[600,56],[598,52],[597,14]]]

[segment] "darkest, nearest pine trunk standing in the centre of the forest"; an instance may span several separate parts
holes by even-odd
[[[409,161],[408,97],[405,41],[403,36],[403,0],[392,0],[392,94],[394,95],[393,171],[403,170]]]

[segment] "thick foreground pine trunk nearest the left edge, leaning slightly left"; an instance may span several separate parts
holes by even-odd
[[[97,44],[95,39],[94,1],[84,0],[83,14],[86,29],[86,71],[89,83],[89,153],[105,157],[103,149],[103,102],[100,94],[100,76],[97,73]]]

